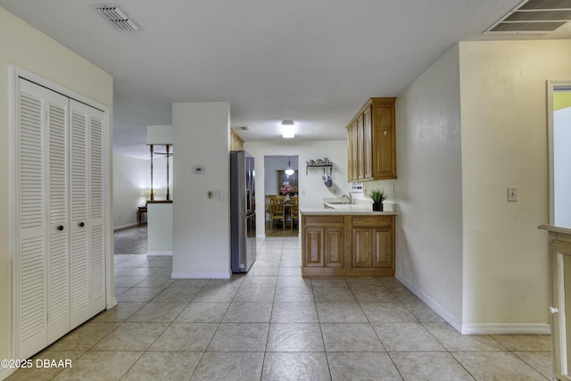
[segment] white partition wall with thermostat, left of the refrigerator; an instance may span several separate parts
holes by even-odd
[[[172,277],[228,278],[230,104],[173,104]],[[202,167],[203,171],[195,168]],[[219,190],[221,198],[210,198]],[[263,203],[262,203],[263,204]]]

